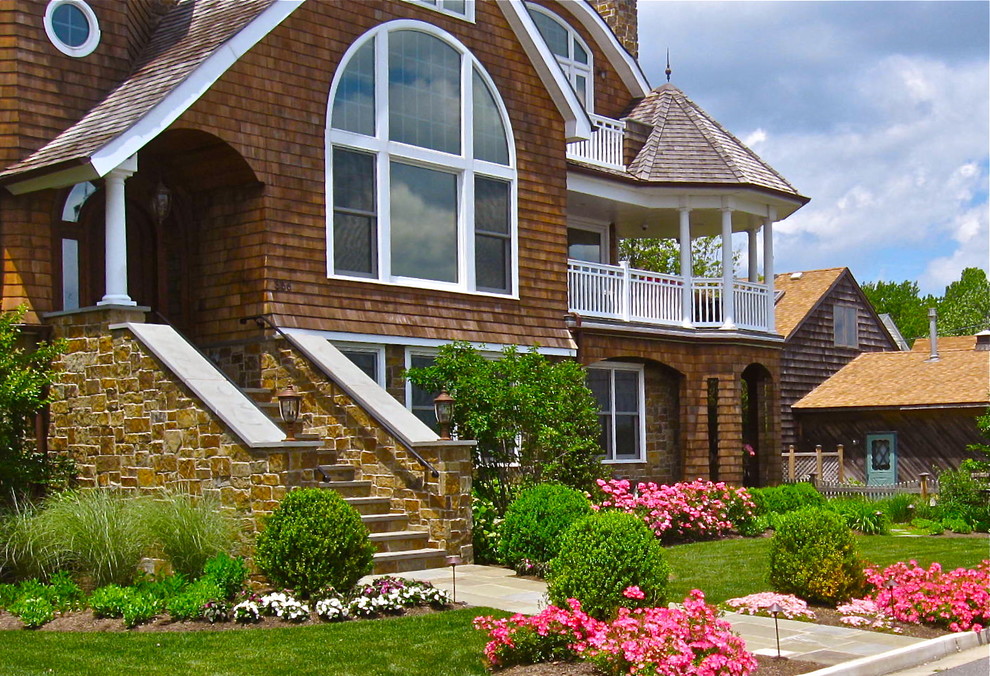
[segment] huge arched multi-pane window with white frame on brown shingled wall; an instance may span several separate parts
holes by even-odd
[[[428,24],[379,26],[344,55],[327,117],[331,276],[515,292],[512,133],[463,45]]]

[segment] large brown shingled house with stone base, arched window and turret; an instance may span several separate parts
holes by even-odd
[[[68,339],[48,445],[84,483],[248,525],[322,483],[396,566],[470,556],[469,447],[401,378],[452,340],[586,364],[617,474],[740,483],[749,443],[776,479],[772,230],[807,198],[651,90],[634,0],[11,0],[0,36],[3,307]],[[692,279],[732,233],[754,280]],[[617,260],[644,236],[681,274]],[[303,438],[262,410],[288,385]]]

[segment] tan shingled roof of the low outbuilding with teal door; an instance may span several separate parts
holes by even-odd
[[[799,410],[938,408],[990,403],[990,352],[867,352],[794,404]]]

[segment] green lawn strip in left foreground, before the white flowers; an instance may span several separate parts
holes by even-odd
[[[484,632],[469,608],[418,617],[285,629],[186,633],[0,632],[0,673],[334,674],[467,676],[481,666]]]

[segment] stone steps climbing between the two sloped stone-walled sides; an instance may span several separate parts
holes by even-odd
[[[281,425],[274,392],[265,388],[241,388],[272,420]],[[296,433],[300,441],[318,439],[317,435]],[[375,497],[371,481],[358,479],[358,467],[349,464],[320,465],[316,468],[317,485],[337,491],[361,515],[361,521],[375,545],[374,575],[404,573],[410,570],[440,568],[446,552],[429,546],[429,533],[410,530],[404,512],[393,512],[388,498]]]

